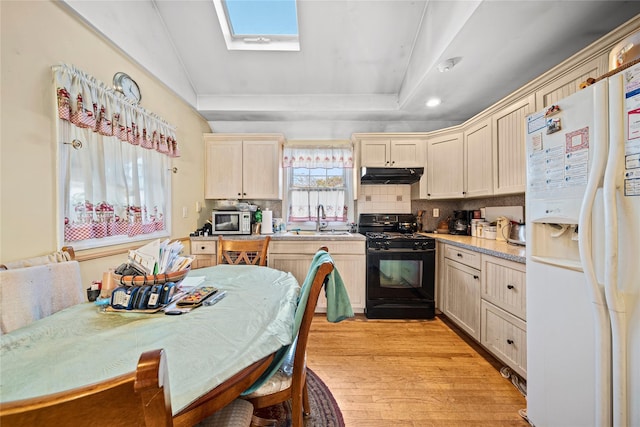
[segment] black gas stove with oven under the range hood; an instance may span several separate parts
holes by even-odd
[[[358,232],[367,237],[367,317],[433,318],[436,242],[417,233],[415,216],[361,214]]]

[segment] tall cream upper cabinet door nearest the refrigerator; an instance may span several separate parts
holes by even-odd
[[[493,193],[524,193],[525,118],[535,112],[535,96],[522,98],[492,116]]]

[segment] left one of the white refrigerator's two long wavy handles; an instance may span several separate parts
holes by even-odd
[[[589,156],[592,156],[589,179],[585,189],[580,216],[578,220],[578,248],[580,250],[580,262],[587,282],[587,292],[593,301],[593,316],[595,319],[595,420],[596,425],[606,426],[611,424],[611,334],[609,327],[609,315],[607,312],[605,295],[598,284],[595,273],[592,252],[592,211],[595,203],[596,192],[601,179],[605,174],[607,158],[607,86],[598,84],[594,90],[594,144],[590,148]]]

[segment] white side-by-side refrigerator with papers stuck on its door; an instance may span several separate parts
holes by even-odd
[[[640,426],[640,65],[525,132],[529,422]]]

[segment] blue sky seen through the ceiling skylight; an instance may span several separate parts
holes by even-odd
[[[226,0],[234,35],[298,34],[296,0]]]

